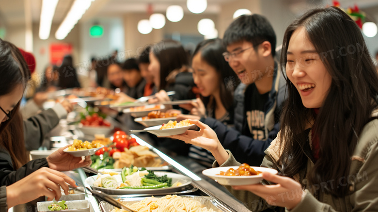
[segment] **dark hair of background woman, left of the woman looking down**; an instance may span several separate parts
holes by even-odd
[[[158,90],[167,89],[166,78],[173,70],[188,66],[188,56],[180,42],[165,40],[160,47],[154,46],[152,52],[160,63],[160,86]]]

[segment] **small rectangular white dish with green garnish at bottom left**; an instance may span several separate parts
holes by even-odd
[[[37,202],[38,212],[90,212],[88,200]]]

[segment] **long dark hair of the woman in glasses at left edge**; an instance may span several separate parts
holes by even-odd
[[[7,41],[0,39],[0,96],[11,93],[17,85],[24,90],[30,79],[29,67],[20,50]],[[22,116],[19,113],[20,101],[11,111],[11,118],[0,124],[0,147],[11,156],[16,169],[27,162],[24,143]]]

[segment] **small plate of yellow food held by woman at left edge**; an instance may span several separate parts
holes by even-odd
[[[88,142],[75,139],[74,143],[63,150],[63,152],[67,152],[75,157],[81,157],[81,156],[88,156],[93,155],[98,149],[104,147],[104,145],[101,145],[96,142]]]

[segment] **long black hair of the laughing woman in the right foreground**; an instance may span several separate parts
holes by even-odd
[[[293,83],[286,79],[288,99],[281,116],[283,133],[280,135],[280,140],[285,142],[280,163],[283,174],[289,177],[306,167],[307,159],[301,150],[306,139],[302,132],[306,123],[314,120],[312,129],[319,137],[319,159],[307,179],[311,185],[333,180],[325,188],[326,192],[345,196],[349,186],[336,183],[347,185],[351,156],[364,125],[377,107],[377,71],[357,24],[341,9],[328,7],[308,11],[286,29],[281,55],[283,72],[290,37],[300,27],[304,27],[332,82],[314,117],[312,109],[303,106]]]

